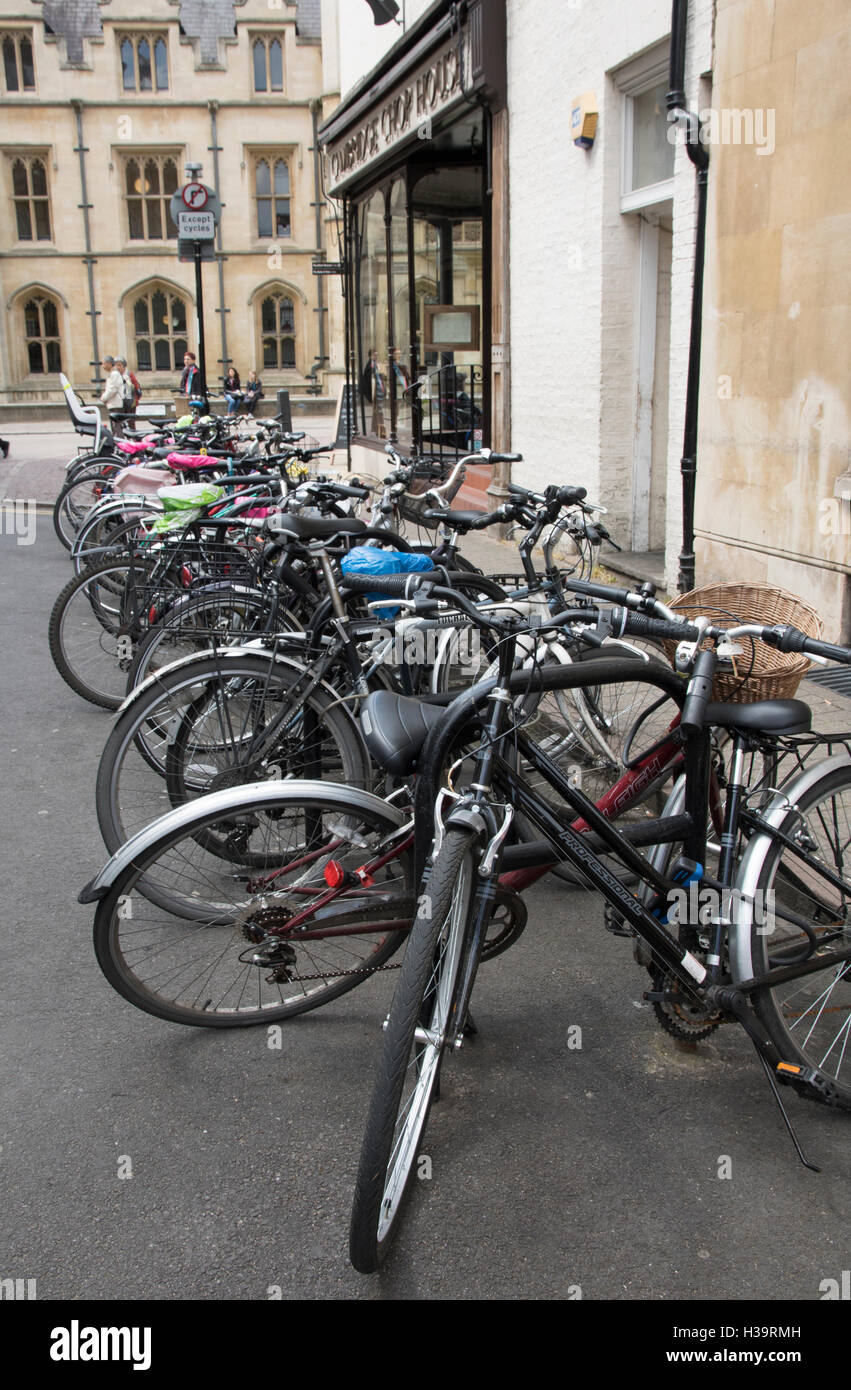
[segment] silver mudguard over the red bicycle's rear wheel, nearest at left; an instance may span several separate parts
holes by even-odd
[[[296,780],[278,785],[274,783],[263,783],[261,785],[249,783],[245,787],[213,791],[206,796],[197,796],[196,801],[186,802],[185,806],[165,812],[164,816],[152,821],[150,826],[145,826],[143,830],[136,831],[135,835],[115,851],[100,873],[96,873],[89,880],[78,894],[76,901],[99,902],[107,895],[120,874],[131,867],[136,856],[143,855],[152,845],[156,845],[157,840],[163,835],[185,830],[196,817],[203,820],[210,813],[220,810],[238,812],[249,809],[252,802],[257,801],[257,796],[261,796],[266,802],[281,802],[282,805],[314,798],[317,801],[327,801],[332,790],[338,791],[353,810],[380,812],[387,819],[395,820],[398,827],[402,827],[410,819],[392,803],[382,801],[381,796],[375,796],[370,791],[362,791],[359,787],[348,787],[342,783]]]

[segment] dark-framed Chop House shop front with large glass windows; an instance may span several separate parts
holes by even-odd
[[[505,0],[438,0],[320,131],[342,204],[357,467],[388,443],[445,461],[508,448],[503,120]]]

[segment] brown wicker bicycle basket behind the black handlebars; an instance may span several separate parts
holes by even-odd
[[[724,627],[737,623],[793,623],[813,638],[820,638],[825,630],[809,603],[768,584],[709,584],[680,594],[669,606],[690,619],[702,613]],[[776,652],[765,642],[749,638],[741,638],[736,645],[741,651],[734,657],[734,670],[719,671],[712,682],[715,701],[751,705],[758,699],[791,699],[809,670],[811,663],[800,652]],[[673,664],[677,644],[665,642],[663,646]]]

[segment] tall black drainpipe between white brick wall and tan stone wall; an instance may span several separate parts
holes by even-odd
[[[670,17],[670,72],[667,111],[686,122],[686,149],[697,171],[697,235],[694,245],[694,279],[691,285],[691,336],[688,342],[688,382],[686,386],[686,424],[683,430],[683,549],[680,550],[680,594],[695,585],[694,575],[694,493],[697,478],[697,425],[701,381],[701,332],[704,324],[704,263],[706,256],[706,190],[709,185],[709,150],[701,142],[701,120],[686,103],[686,36],[688,0],[673,0]]]

